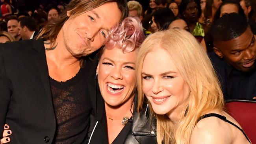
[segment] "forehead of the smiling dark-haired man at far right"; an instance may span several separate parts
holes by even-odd
[[[248,27],[247,30],[239,37],[229,41],[216,42],[215,44],[221,51],[244,50],[249,47],[253,36],[252,31]]]

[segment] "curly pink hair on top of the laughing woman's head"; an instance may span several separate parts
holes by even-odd
[[[115,26],[109,31],[105,48],[118,46],[124,52],[132,52],[139,48],[144,38],[145,35],[139,18],[127,17],[120,26]]]

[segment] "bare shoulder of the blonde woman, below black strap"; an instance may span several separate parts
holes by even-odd
[[[191,144],[229,144],[231,135],[228,123],[211,116],[196,124],[191,134]]]

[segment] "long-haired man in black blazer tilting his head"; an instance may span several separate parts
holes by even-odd
[[[71,0],[67,9],[37,39],[0,45],[0,133],[8,124],[13,143],[86,140],[92,109],[87,75],[93,69],[88,56],[128,9],[126,0]]]

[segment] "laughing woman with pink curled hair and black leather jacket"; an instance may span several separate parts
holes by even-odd
[[[108,41],[98,54],[97,80],[91,78],[100,92],[92,104],[95,111],[91,114],[89,144],[156,143],[156,132],[150,127],[147,113],[134,111],[135,59],[144,37],[138,18],[125,18],[110,30]]]

